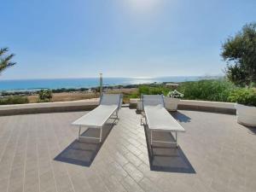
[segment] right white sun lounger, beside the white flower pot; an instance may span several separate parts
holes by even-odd
[[[162,95],[143,95],[142,100],[144,118],[150,131],[150,145],[152,146],[153,143],[175,143],[177,146],[177,132],[185,130],[166,110],[164,97]],[[154,131],[175,132],[175,142],[154,140]]]

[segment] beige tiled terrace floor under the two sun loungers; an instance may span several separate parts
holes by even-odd
[[[70,124],[84,113],[0,117],[0,191],[256,191],[256,131],[234,115],[179,111],[180,148],[153,148],[148,158],[135,110],[106,125],[101,148],[76,141]]]

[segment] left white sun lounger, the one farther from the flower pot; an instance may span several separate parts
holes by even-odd
[[[121,105],[121,95],[120,94],[103,94],[101,96],[100,105],[84,114],[81,118],[75,120],[72,125],[79,126],[79,137],[84,137],[80,135],[81,127],[86,128],[96,128],[100,129],[100,137],[84,137],[91,139],[99,139],[102,143],[102,127],[107,122],[108,119],[114,118],[118,119],[118,112]]]

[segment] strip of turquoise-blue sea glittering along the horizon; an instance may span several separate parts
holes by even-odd
[[[128,85],[128,84],[151,84],[162,82],[180,83],[185,81],[196,81],[200,79],[214,79],[216,77],[199,76],[172,76],[160,78],[103,78],[104,86]],[[92,88],[99,86],[99,78],[81,78],[81,79],[0,79],[1,91],[26,91],[42,89],[79,89]]]

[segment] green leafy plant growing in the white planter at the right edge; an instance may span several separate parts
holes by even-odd
[[[229,96],[229,102],[237,102],[242,105],[256,107],[256,90],[253,88],[238,88],[232,90]]]

